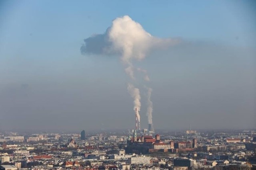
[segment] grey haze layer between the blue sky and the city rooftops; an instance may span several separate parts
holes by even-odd
[[[147,68],[151,75],[154,127],[175,130],[189,124],[196,129],[254,127],[255,53],[249,48],[185,43],[168,51],[155,51],[136,63]],[[10,63],[9,78],[16,81],[1,84],[0,107],[4,117],[1,128],[133,128],[133,104],[122,65],[116,58],[89,57],[88,64],[84,64],[88,57],[79,55],[60,63],[52,59],[57,68],[45,71],[41,69],[50,63],[26,60]],[[31,73],[31,69],[38,72]],[[30,75],[21,77],[26,74]],[[142,95],[140,114],[145,128],[146,91]]]

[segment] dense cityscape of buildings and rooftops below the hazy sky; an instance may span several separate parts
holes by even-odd
[[[2,170],[250,170],[256,131],[0,133]]]

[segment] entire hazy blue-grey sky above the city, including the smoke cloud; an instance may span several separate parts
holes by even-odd
[[[0,130],[256,127],[256,2],[129,2],[1,1]]]

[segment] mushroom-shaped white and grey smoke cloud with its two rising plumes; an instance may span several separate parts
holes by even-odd
[[[177,39],[160,39],[146,32],[140,23],[133,21],[129,16],[116,18],[112,21],[104,34],[93,35],[84,39],[80,48],[82,54],[118,55],[124,64],[125,72],[135,80],[133,60],[141,61],[152,49],[165,48],[179,43]],[[144,73],[144,80],[150,81],[146,70],[137,68]],[[128,84],[128,91],[134,99],[134,110],[138,109],[136,116],[140,121],[140,90]],[[152,124],[152,102],[150,100],[152,89],[148,88],[148,123]]]

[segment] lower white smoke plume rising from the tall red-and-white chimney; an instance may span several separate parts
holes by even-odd
[[[127,90],[129,92],[129,94],[132,96],[133,100],[133,104],[134,104],[134,111],[135,108],[137,108],[137,112],[136,112],[136,116],[138,118],[138,121],[140,122],[140,107],[141,107],[141,103],[140,103],[140,90],[138,88],[135,88],[132,84],[128,83],[128,87]]]

